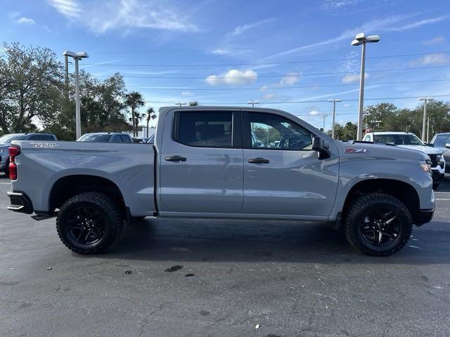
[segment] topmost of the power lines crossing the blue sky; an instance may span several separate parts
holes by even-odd
[[[380,55],[371,56],[367,59],[379,59],[379,58],[400,58],[407,56],[420,56],[420,55],[430,55],[430,54],[445,54],[450,53],[450,51],[436,51],[434,53],[411,53],[411,54],[397,54],[397,55]],[[150,64],[150,63],[84,63],[84,65],[95,65],[96,67],[232,67],[240,65],[291,65],[298,63],[316,63],[316,62],[334,62],[334,61],[349,61],[349,60],[359,60],[360,58],[330,58],[323,60],[300,60],[300,61],[285,61],[285,62],[256,62],[256,63],[204,63],[204,64]]]

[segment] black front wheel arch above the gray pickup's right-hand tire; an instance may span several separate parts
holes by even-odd
[[[361,180],[353,185],[347,193],[344,205],[342,206],[342,216],[345,216],[345,211],[348,209],[349,203],[352,202],[354,197],[371,192],[385,193],[399,199],[411,213],[413,223],[419,222],[420,199],[417,190],[404,181],[386,178]]]

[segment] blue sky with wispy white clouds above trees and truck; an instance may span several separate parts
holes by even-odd
[[[321,127],[330,98],[347,100],[339,123],[356,121],[359,32],[381,37],[367,48],[365,96],[392,98],[365,105],[450,100],[449,13],[446,0],[3,0],[0,41],[86,51],[85,70],[121,72],[157,109],[258,100]]]

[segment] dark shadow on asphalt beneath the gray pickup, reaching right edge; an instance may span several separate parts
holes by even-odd
[[[127,227],[105,258],[207,262],[430,264],[450,262],[449,232],[413,231],[392,257],[364,256],[326,224],[257,220],[150,219]]]

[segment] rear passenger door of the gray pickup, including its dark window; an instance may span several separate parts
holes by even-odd
[[[162,214],[242,211],[240,112],[182,109],[167,114],[160,149],[160,201]]]

